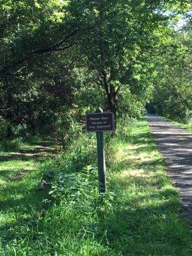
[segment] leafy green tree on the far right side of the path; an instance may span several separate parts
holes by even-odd
[[[159,71],[152,104],[161,115],[187,121],[192,110],[191,28],[189,24],[184,27],[170,31],[155,61]]]

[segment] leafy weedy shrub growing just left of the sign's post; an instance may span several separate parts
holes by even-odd
[[[49,161],[43,166],[42,179],[51,184],[49,195],[52,198],[68,203],[70,201],[74,204],[81,203],[79,207],[83,207],[82,204],[84,204],[84,208],[93,207],[92,202],[98,202],[95,137],[95,134],[82,134],[79,141],[71,143],[67,152],[61,153],[54,161]],[[108,140],[109,138],[110,136],[108,136]],[[107,196],[105,200],[102,200],[102,204],[104,202],[104,204],[108,204],[111,197],[106,198]]]

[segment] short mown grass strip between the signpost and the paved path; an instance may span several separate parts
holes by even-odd
[[[109,174],[109,186],[119,201],[111,221],[115,227],[109,228],[112,240],[118,236],[115,248],[122,255],[189,255],[189,233],[179,213],[179,195],[166,175],[166,165],[145,120],[118,147],[112,166],[116,172]]]

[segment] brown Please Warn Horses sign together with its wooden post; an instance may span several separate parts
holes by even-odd
[[[107,191],[104,131],[113,131],[114,127],[113,113],[103,112],[102,109],[99,109],[96,113],[86,114],[86,131],[97,133],[97,159],[100,193],[106,193]]]

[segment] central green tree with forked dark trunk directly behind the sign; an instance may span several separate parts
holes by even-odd
[[[169,17],[163,14],[167,7],[163,1],[125,0],[71,1],[68,6],[71,17],[84,17],[77,43],[90,69],[97,72],[98,86],[104,88],[108,108],[115,116],[121,92],[134,94],[137,86],[137,91],[146,92],[141,70],[150,70],[145,63],[159,40],[157,30],[168,26]],[[148,98],[147,93],[141,95]]]

